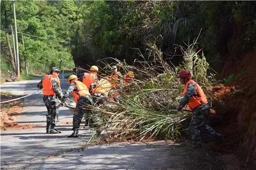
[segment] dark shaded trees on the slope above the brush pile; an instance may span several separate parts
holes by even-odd
[[[80,3],[72,54],[80,66],[113,57],[133,63],[135,48],[155,41],[164,59],[182,52],[174,49],[198,39],[209,64],[221,69],[229,50],[238,56],[256,44],[255,2],[193,1],[94,1]],[[231,45],[232,44],[232,45]],[[182,57],[173,57],[175,64]],[[82,63],[86,63],[83,64]]]

